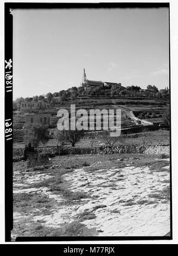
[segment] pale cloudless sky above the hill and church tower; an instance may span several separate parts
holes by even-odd
[[[169,10],[18,10],[13,15],[13,97],[88,80],[169,86]]]

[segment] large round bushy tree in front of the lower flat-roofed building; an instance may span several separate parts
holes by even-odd
[[[38,147],[40,142],[46,144],[49,141],[48,127],[39,124],[27,125],[25,141],[26,145],[31,143],[34,147]]]

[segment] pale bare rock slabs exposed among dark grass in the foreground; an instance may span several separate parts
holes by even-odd
[[[49,179],[49,173],[26,173],[23,178],[15,173],[14,194],[45,195],[55,200],[50,214],[30,214],[33,222],[45,226],[59,227],[79,220],[89,229],[95,228],[98,236],[164,236],[170,232],[169,175],[169,166],[161,171],[132,165],[95,171],[75,169],[62,175],[63,184],[76,194],[85,192],[88,198],[65,204],[61,194],[53,194],[47,187],[26,188]],[[26,216],[15,212],[14,222]]]

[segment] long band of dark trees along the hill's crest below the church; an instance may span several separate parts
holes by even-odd
[[[145,97],[157,97],[158,99],[169,97],[169,90],[168,89],[161,89],[158,90],[157,87],[148,85],[146,90],[142,90],[139,86],[96,86],[96,87],[72,87],[68,90],[61,90],[55,93],[47,93],[45,95],[40,96],[33,96],[33,97],[20,97],[13,102],[14,108],[17,108],[18,104],[26,100],[27,102],[39,101],[42,100],[43,102],[49,103],[51,106],[55,106],[56,104],[60,104],[61,102],[65,102],[68,100],[75,100],[78,96],[145,96]]]

